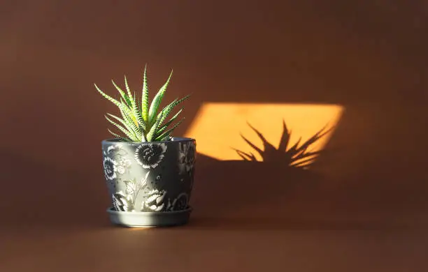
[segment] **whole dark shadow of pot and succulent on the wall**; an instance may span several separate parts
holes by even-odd
[[[299,139],[290,146],[291,131],[283,121],[283,135],[276,148],[248,125],[262,139],[263,148],[241,136],[262,160],[257,160],[254,153],[238,149],[235,151],[243,160],[221,161],[198,155],[192,195],[195,226],[204,225],[204,220],[215,221],[213,218],[232,225],[241,220],[246,227],[249,222],[258,222],[256,225],[266,222],[273,227],[273,222],[278,225],[285,218],[288,222],[290,218],[304,216],[310,218],[306,222],[311,222],[314,216],[322,218],[320,211],[328,211],[330,203],[323,193],[324,176],[311,166],[326,150],[314,151],[311,146],[332,128],[326,126],[306,142]]]

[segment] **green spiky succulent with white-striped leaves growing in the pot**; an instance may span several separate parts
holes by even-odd
[[[108,116],[106,116],[106,119],[118,130],[120,130],[124,136],[113,133],[109,129],[108,131],[113,136],[126,142],[169,141],[171,140],[171,134],[173,133],[173,130],[177,128],[184,119],[181,119],[170,127],[170,125],[176,121],[178,115],[183,111],[184,107],[182,107],[174,116],[171,117],[171,119],[169,119],[169,121],[166,121],[166,118],[169,116],[169,114],[171,114],[173,108],[190,96],[185,96],[181,99],[175,99],[172,103],[159,111],[162,98],[164,97],[166,88],[168,87],[169,81],[171,80],[172,70],[168,80],[166,80],[164,85],[159,89],[155,98],[153,98],[152,102],[150,103],[150,106],[148,100],[149,90],[146,72],[147,66],[144,68],[141,103],[139,103],[140,101],[138,100],[136,92],[134,92],[133,95],[131,89],[129,89],[126,75],[124,76],[126,92],[120,89],[120,87],[117,86],[113,80],[111,80],[117,91],[120,93],[120,100],[116,100],[115,98],[108,96],[106,93],[101,91],[101,89],[99,89],[97,84],[94,84],[97,91],[99,91],[99,93],[101,93],[104,98],[115,104],[119,108],[120,114],[122,115],[122,118],[120,118],[113,114],[107,114]]]

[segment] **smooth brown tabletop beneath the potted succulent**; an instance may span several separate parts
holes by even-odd
[[[114,227],[106,216],[2,225],[0,271],[427,271],[423,217],[323,218],[195,213],[188,225],[162,229]]]

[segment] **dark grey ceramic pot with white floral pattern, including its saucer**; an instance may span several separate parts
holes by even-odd
[[[183,225],[195,169],[196,141],[102,142],[103,167],[112,206],[110,220],[127,227]]]

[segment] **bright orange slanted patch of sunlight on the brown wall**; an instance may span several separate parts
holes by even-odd
[[[278,147],[283,133],[283,120],[287,128],[292,130],[292,145],[299,137],[305,141],[326,125],[335,126],[342,113],[343,107],[340,105],[206,103],[199,109],[185,136],[197,139],[198,153],[217,160],[241,160],[232,147],[241,151],[252,149],[240,134],[262,147],[261,140],[247,121]],[[334,131],[331,130],[313,144],[311,150],[322,149],[331,133]],[[257,153],[255,156],[261,160]]]

